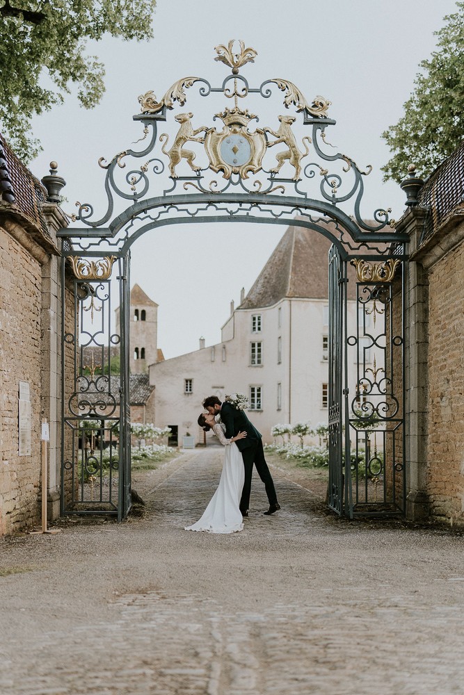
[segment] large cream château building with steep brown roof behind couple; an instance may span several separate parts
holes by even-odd
[[[248,414],[267,442],[276,423],[327,423],[329,248],[321,234],[289,227],[248,295],[242,291],[236,309],[232,302],[220,343],[200,338],[195,352],[150,365],[158,425],[179,441],[189,432],[202,442],[202,400],[233,392],[248,395]],[[354,282],[348,296],[355,332]]]

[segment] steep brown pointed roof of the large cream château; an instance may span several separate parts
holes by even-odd
[[[317,231],[289,227],[239,309],[272,306],[285,297],[327,299],[330,246],[330,241]],[[349,284],[349,289],[349,297],[353,298],[355,288]]]

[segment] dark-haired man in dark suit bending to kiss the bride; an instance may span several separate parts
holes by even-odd
[[[250,504],[251,492],[251,476],[253,474],[253,464],[256,466],[259,477],[266,486],[266,494],[269,500],[269,509],[264,512],[266,516],[274,514],[280,509],[280,504],[277,501],[275,494],[274,482],[271,473],[264,458],[264,450],[262,445],[262,434],[256,427],[250,423],[243,410],[234,408],[232,404],[221,401],[216,395],[210,395],[203,401],[203,407],[210,415],[221,415],[221,420],[225,425],[225,436],[230,439],[239,434],[246,432],[245,439],[239,439],[235,443],[241,451],[243,457],[243,466],[245,466],[245,482],[243,483],[243,491],[241,493],[240,511],[242,516],[248,516],[248,505]]]

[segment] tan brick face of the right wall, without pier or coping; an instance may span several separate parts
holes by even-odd
[[[464,523],[464,245],[429,271],[427,492],[433,516]]]

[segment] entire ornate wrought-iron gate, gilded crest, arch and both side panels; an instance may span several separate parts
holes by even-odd
[[[395,293],[394,284],[399,261],[407,260],[408,237],[392,229],[388,210],[374,211],[371,222],[362,218],[363,177],[371,167],[361,170],[326,140],[326,129],[335,125],[328,117],[330,101],[319,95],[307,101],[294,83],[282,79],[250,87],[239,70],[257,53],[243,42],[236,47],[234,42],[216,47],[216,60],[232,68],[222,85],[189,76],[159,100],[152,91],[138,97],[141,113],[134,120],[143,124],[137,141],[142,149],[123,149],[109,163],[99,160],[106,171],[106,211],[94,220],[93,206],[77,203],[72,219],[81,226],[58,233],[63,239],[64,513],[111,513],[122,519],[129,511],[129,254],[150,230],[186,222],[298,224],[333,243],[329,505],[350,516],[404,507],[403,324],[397,310],[402,299],[401,287]],[[191,111],[179,112],[193,85],[198,93],[189,92],[192,103],[200,104],[201,97],[221,100],[201,120]],[[269,108],[275,97],[279,110],[283,101],[293,113],[274,112],[274,129],[253,129],[258,117],[248,107],[259,109],[264,99]],[[172,111],[175,117],[168,122]],[[222,122],[220,130],[211,113],[212,120]],[[202,121],[209,124],[199,125]],[[159,136],[165,122],[169,132]],[[299,143],[297,128],[305,131]],[[274,156],[275,145],[281,149]],[[143,164],[125,170],[127,161],[137,159]],[[163,177],[166,168],[169,175]],[[348,214],[344,205],[350,199],[354,205]],[[115,211],[115,202],[127,207]],[[72,286],[65,285],[65,264],[72,265]],[[120,302],[114,333],[111,291]],[[112,375],[118,360],[120,373]]]

